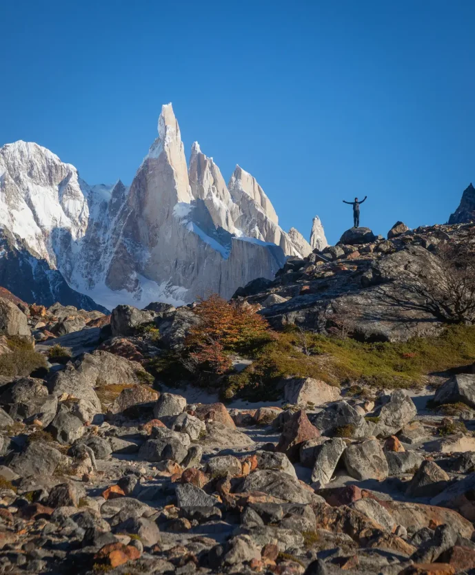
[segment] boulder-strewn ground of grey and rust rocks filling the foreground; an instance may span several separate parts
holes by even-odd
[[[436,393],[360,396],[292,378],[284,408],[226,408],[192,399],[190,388],[149,386],[148,359],[183,343],[193,315],[153,307],[118,306],[99,348],[66,365],[50,353],[34,377],[2,377],[2,572],[475,569],[475,375],[447,377]],[[61,306],[25,312],[0,306],[6,341],[14,331],[36,334],[41,320],[85,321]],[[158,344],[146,331],[151,320]],[[134,359],[124,357],[132,350]],[[3,369],[14,353],[0,346]],[[459,419],[428,410],[427,399],[457,405]]]

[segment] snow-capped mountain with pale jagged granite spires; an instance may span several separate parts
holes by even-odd
[[[90,186],[34,143],[3,146],[0,226],[23,253],[109,309],[230,297],[254,278],[273,278],[285,256],[312,251],[296,229],[279,227],[269,198],[241,167],[226,185],[194,143],[188,169],[171,104],[158,131],[130,188],[120,180]],[[326,243],[323,228],[321,235]]]

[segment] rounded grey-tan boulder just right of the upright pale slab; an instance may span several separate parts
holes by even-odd
[[[366,439],[348,446],[343,454],[348,474],[358,481],[386,479],[389,468],[377,439]]]

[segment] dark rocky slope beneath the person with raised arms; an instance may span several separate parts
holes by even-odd
[[[346,231],[336,246],[316,249],[307,258],[290,258],[275,280],[255,280],[235,297],[261,304],[270,324],[295,324],[327,333],[345,326],[369,342],[405,341],[434,335],[441,317],[427,306],[419,289],[441,277],[433,251],[441,242],[463,244],[472,224],[420,227],[398,222],[390,239],[367,228]],[[272,297],[270,297],[272,296]]]

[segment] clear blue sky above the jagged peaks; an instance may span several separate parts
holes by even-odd
[[[1,2],[0,144],[130,183],[172,102],[226,180],[336,242],[445,222],[475,181],[473,0]]]

